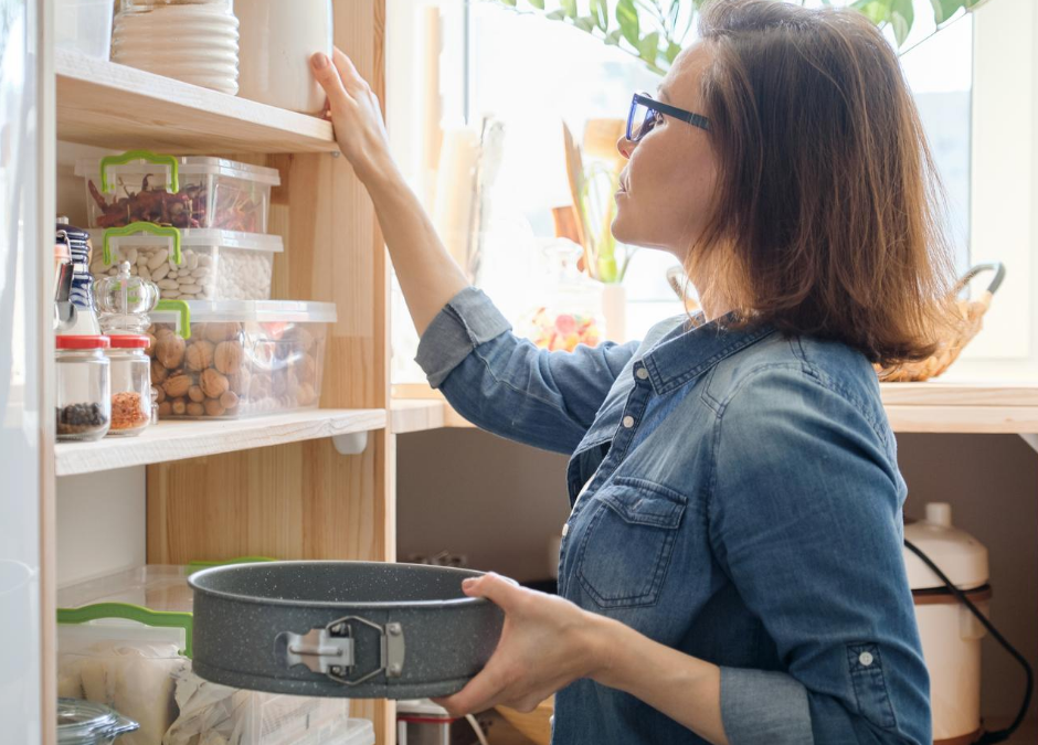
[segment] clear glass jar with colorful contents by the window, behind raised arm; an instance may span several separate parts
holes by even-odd
[[[548,277],[541,299],[520,323],[534,344],[572,352],[578,344],[595,347],[604,339],[602,285],[578,269],[582,248],[572,241],[544,246]]]

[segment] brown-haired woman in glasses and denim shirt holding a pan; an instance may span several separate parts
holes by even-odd
[[[517,339],[467,286],[370,88],[341,53],[314,60],[430,383],[572,455],[560,597],[466,582],[505,630],[443,703],[558,691],[555,743],[930,743],[872,368],[931,351],[946,289],[919,119],[855,12],[719,0],[700,31],[635,98],[613,232],[678,256],[705,312],[572,354]]]

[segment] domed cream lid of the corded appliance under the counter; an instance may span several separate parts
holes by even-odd
[[[904,526],[904,540],[926,554],[960,589],[987,583],[987,549],[952,525],[952,508],[946,502],[929,502],[926,519]],[[944,587],[941,578],[908,549],[904,549],[904,568],[912,589]]]

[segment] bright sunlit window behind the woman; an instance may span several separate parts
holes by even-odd
[[[1030,256],[1030,214],[1038,199],[1032,188],[1038,153],[1031,147],[1038,9],[1032,0],[995,0],[933,34],[931,0],[914,0],[914,6],[917,22],[902,47],[908,50],[902,65],[945,187],[945,228],[956,268],[993,259],[1008,267],[985,330],[954,374],[1030,374],[1038,356],[1038,309],[1030,299],[1038,287],[1038,262]],[[438,148],[441,126],[448,132],[463,125],[478,129],[486,115],[504,123],[504,157],[492,214],[483,225],[488,235],[478,284],[515,319],[542,277],[537,240],[554,233],[551,207],[570,203],[561,121],[580,140],[589,119],[624,117],[632,92],[653,91],[659,78],[572,26],[495,2],[390,0],[389,9],[391,136],[398,155],[410,153],[413,167],[404,170],[420,193],[432,200],[435,191],[427,163],[435,162],[430,155]],[[407,22],[394,25],[394,14]],[[437,33],[430,33],[431,24]],[[401,26],[409,31],[394,38]],[[412,66],[410,77],[394,77],[393,55],[432,60],[435,42],[428,40],[437,35],[439,97],[412,95],[402,114],[394,100],[400,107],[407,104],[394,99],[394,81],[405,79],[413,92],[416,82],[427,85],[430,78],[420,66]],[[675,264],[663,252],[635,253],[624,281],[628,338],[640,338],[654,322],[681,311],[665,278]],[[406,327],[413,337],[406,310],[399,307],[394,326]],[[396,356],[409,364],[416,340],[400,344],[394,344]]]

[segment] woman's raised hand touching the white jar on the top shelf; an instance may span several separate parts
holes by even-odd
[[[318,52],[310,57],[310,68],[328,96],[325,116],[335,125],[339,149],[358,178],[370,184],[382,174],[395,172],[379,97],[350,58],[339,49],[333,60]]]

